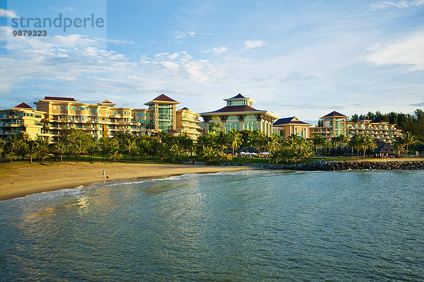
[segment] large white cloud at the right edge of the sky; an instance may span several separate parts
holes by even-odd
[[[404,64],[412,70],[424,70],[424,32],[414,33],[396,42],[377,44],[370,47],[371,54],[367,57],[378,65]]]

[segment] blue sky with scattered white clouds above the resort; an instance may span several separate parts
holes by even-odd
[[[93,14],[103,26],[37,28],[13,18]],[[160,95],[195,112],[241,93],[305,122],[333,110],[424,108],[424,0],[0,0],[0,108],[44,96],[145,108]]]

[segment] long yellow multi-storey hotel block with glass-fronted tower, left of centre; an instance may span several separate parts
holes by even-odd
[[[43,135],[50,143],[57,142],[59,134],[65,129],[82,129],[98,139],[113,137],[117,132],[139,136],[160,131],[170,134],[188,131],[190,124],[184,127],[185,123],[177,122],[178,104],[179,102],[163,94],[146,102],[144,105],[148,105],[148,109],[116,107],[116,104],[109,100],[88,104],[78,102],[74,98],[45,97],[35,102],[37,110],[45,114],[42,119]],[[181,114],[181,117],[183,116]],[[195,117],[192,115],[193,119]],[[187,119],[184,122],[187,122]],[[181,124],[181,127],[177,124]],[[196,134],[192,132],[192,136],[194,135]]]

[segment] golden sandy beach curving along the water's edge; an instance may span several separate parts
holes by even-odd
[[[102,177],[102,170],[112,181],[251,169],[158,163],[0,163],[0,200],[105,182],[107,180]]]

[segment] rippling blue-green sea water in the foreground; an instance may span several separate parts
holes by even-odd
[[[220,172],[0,201],[0,281],[424,281],[423,180]]]

